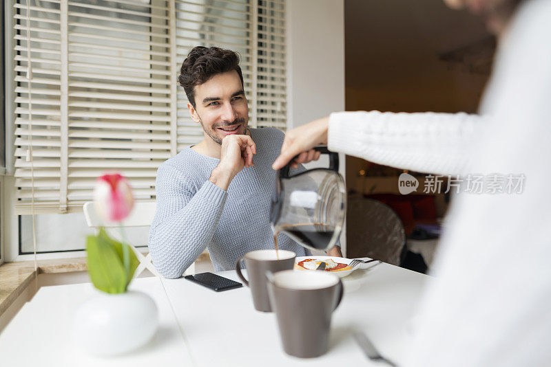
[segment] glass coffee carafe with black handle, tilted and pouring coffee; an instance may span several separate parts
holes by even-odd
[[[314,168],[291,175],[289,164],[276,182],[271,206],[271,226],[275,235],[288,234],[309,249],[331,249],[340,236],[346,212],[346,186],[338,173],[339,155],[316,147],[329,155],[329,168]]]

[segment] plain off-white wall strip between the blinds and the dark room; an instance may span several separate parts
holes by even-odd
[[[344,111],[344,0],[287,0],[287,83],[288,129]]]

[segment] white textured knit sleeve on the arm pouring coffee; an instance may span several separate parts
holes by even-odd
[[[384,166],[459,174],[485,120],[466,113],[332,113],[328,144],[331,151]]]

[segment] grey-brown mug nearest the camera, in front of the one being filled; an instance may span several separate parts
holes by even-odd
[[[319,357],[329,348],[331,314],[340,304],[340,278],[322,271],[268,274],[268,291],[288,355]]]

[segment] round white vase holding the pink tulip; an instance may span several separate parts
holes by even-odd
[[[93,355],[118,355],[151,340],[158,327],[157,306],[151,297],[138,291],[98,293],[76,311],[77,344]]]

